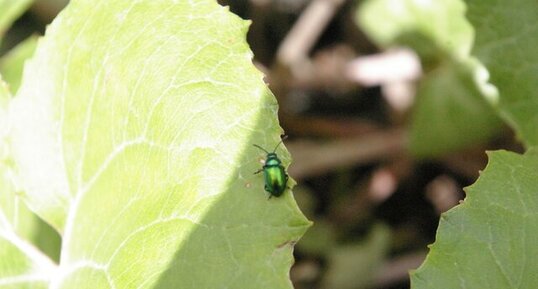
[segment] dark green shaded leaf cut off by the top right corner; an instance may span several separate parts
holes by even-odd
[[[538,3],[468,0],[473,55],[487,67],[499,108],[527,146],[538,145]]]

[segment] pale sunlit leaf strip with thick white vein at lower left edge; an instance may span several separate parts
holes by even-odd
[[[21,236],[32,233],[35,216],[16,192],[6,151],[6,103],[10,99],[0,79],[0,288],[46,288],[54,264]]]

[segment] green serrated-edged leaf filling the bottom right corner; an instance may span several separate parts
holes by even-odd
[[[411,276],[420,288],[536,288],[538,149],[490,152],[467,198],[441,217],[425,263]]]

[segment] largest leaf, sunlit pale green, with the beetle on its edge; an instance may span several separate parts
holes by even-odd
[[[63,236],[54,288],[291,288],[310,222],[253,174],[282,130],[247,29],[213,0],[75,0],[49,26],[10,116]]]

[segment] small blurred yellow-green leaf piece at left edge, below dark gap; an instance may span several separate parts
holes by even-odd
[[[19,89],[24,63],[34,54],[38,39],[36,35],[28,37],[0,58],[0,74],[13,94]]]

